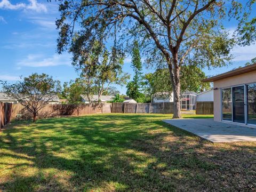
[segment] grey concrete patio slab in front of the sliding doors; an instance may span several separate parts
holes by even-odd
[[[256,141],[256,129],[213,119],[167,119],[164,122],[212,142]]]

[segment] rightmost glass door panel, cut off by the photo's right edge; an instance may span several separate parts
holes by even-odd
[[[247,85],[248,124],[256,125],[256,83]]]

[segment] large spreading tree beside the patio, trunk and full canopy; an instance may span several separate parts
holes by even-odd
[[[239,13],[229,3],[221,0],[61,1],[58,50],[71,47],[69,51],[76,60],[76,50],[83,47],[83,54],[89,53],[95,39],[99,42],[112,39],[115,49],[121,49],[132,37],[138,39],[148,64],[169,69],[174,93],[173,118],[180,118],[182,66],[220,67],[231,59],[234,40],[222,21],[228,12]],[[75,27],[77,24],[80,29]],[[79,39],[75,50],[72,49],[74,39]]]

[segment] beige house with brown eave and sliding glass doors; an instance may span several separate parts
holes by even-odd
[[[256,125],[256,63],[203,82],[213,82],[214,121]]]

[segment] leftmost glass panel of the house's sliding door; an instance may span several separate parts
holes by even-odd
[[[222,120],[232,121],[231,88],[222,89]]]

